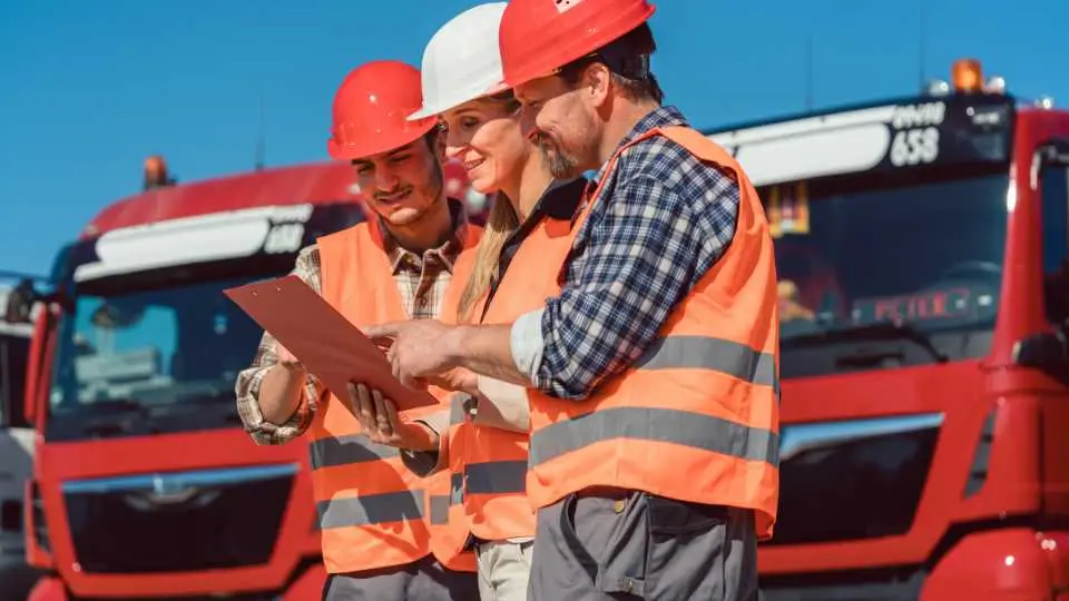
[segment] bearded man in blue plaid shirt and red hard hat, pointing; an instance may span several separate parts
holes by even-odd
[[[778,501],[773,240],[746,174],[661,106],[646,0],[511,0],[506,83],[555,176],[597,175],[559,292],[504,326],[403,322],[403,380],[527,387],[530,599],[755,599]],[[513,265],[521,273],[536,265]]]

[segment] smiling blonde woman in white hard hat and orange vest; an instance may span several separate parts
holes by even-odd
[[[542,295],[523,294],[530,274],[504,278],[509,262],[524,240],[546,236],[550,224],[567,227],[586,188],[581,177],[553,179],[521,128],[519,102],[501,83],[498,28],[504,7],[479,4],[434,33],[423,52],[423,107],[409,117],[439,116],[448,127],[447,154],[464,165],[474,189],[493,196],[460,302],[462,323],[503,323],[540,306]],[[470,372],[455,373],[445,384],[467,393],[461,396],[469,421],[454,420],[449,434],[440,436],[442,449],[433,460],[424,457],[424,465],[434,464],[424,474],[448,466],[458,476],[454,482],[463,483],[449,519],[463,520],[471,532],[454,551],[474,546],[482,600],[526,601],[534,535],[524,482],[526,390]]]

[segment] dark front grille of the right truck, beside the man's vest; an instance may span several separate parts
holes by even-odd
[[[908,532],[942,423],[922,414],[784,426],[779,518],[765,544]]]

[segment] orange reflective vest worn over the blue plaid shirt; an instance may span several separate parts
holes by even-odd
[[[753,509],[758,536],[768,539],[779,495],[779,321],[768,223],[742,167],[690,128],[646,132],[620,148],[609,169],[626,148],[658,135],[738,183],[735,236],[630,367],[583,401],[528,391],[527,494],[543,508],[590,486],[615,486]],[[572,237],[590,206],[608,200],[600,193],[581,209]],[[533,248],[528,257],[510,270],[546,260]]]

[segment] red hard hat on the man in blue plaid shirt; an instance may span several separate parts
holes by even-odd
[[[647,0],[511,0],[499,46],[509,87],[552,75],[645,23]]]

